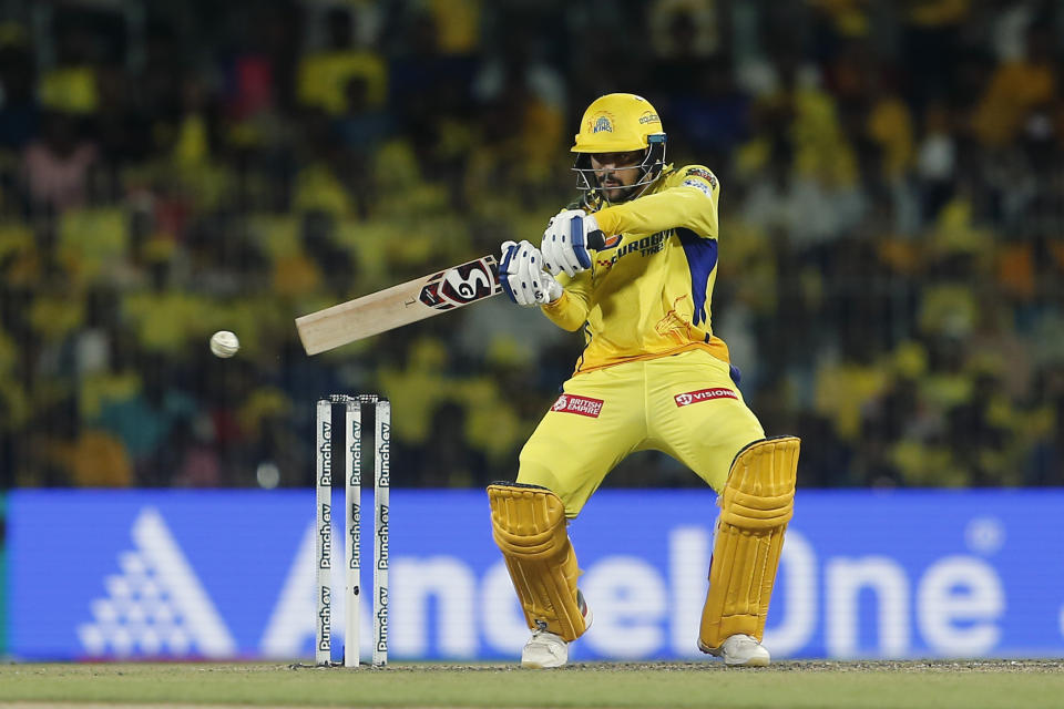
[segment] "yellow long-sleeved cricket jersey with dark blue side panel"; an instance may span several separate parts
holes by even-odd
[[[668,165],[643,196],[595,213],[610,247],[561,274],[564,294],[543,306],[559,327],[584,329],[576,373],[692,349],[729,361],[710,327],[719,192],[706,167]]]

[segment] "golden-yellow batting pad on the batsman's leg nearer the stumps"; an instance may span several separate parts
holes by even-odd
[[[538,485],[488,486],[491,528],[518,592],[529,629],[572,641],[587,629],[576,598],[576,553],[561,497]]]

